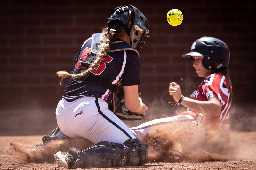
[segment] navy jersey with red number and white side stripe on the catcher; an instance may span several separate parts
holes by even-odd
[[[79,52],[75,56],[76,65],[73,72],[74,74],[81,71],[81,62],[83,61],[83,58],[91,53],[91,43],[92,38],[84,41]],[[93,69],[90,74],[105,78],[113,85],[120,83],[123,83],[124,86],[139,85],[139,55],[133,50],[125,49],[107,53],[101,60],[99,66]],[[71,102],[84,96],[93,96],[104,99],[109,105],[113,98],[113,92],[92,82],[70,79],[62,97],[68,102]]]

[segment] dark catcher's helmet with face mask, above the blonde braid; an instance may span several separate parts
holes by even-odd
[[[132,11],[133,24],[128,28],[129,10]],[[132,47],[137,51],[145,44],[144,40],[149,37],[148,20],[144,14],[132,5],[124,5],[116,7],[111,11],[112,15],[108,17],[108,29],[112,31],[121,31],[125,29],[126,33],[130,34]]]

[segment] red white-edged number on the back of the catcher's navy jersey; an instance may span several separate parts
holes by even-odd
[[[86,47],[80,57],[80,60],[77,62],[76,64],[76,68],[80,69],[81,68],[81,63],[83,60],[85,60],[87,58],[87,56],[91,53],[91,48]],[[103,56],[98,68],[94,68],[91,73],[95,74],[95,75],[100,75],[106,68],[106,63],[110,63],[113,60],[112,57],[110,57],[109,55],[105,55]]]

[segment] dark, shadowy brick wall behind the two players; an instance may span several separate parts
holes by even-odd
[[[39,102],[55,107],[61,98],[56,72],[72,71],[73,56],[82,41],[105,26],[109,10],[120,1],[2,1],[0,7],[1,108],[25,107]],[[148,18],[150,38],[140,51],[140,92],[146,101],[168,97],[176,81],[189,95],[199,84],[189,60],[194,40],[214,36],[230,48],[230,71],[235,102],[255,102],[255,3],[233,1],[130,1]],[[166,21],[169,10],[180,9],[180,26]],[[183,81],[181,80],[183,79]],[[167,101],[166,100],[166,101]]]

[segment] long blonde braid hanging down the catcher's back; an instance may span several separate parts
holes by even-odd
[[[90,67],[79,74],[69,74],[67,71],[58,71],[57,75],[61,78],[60,79],[60,85],[64,78],[71,77],[71,78],[80,78],[90,73],[94,68],[96,68],[100,61],[102,60],[103,56],[105,56],[109,49],[110,49],[110,43],[114,41],[115,39],[115,32],[109,30],[107,28],[104,28],[102,30],[101,40],[103,41],[100,45],[100,52],[97,54],[96,59]]]

